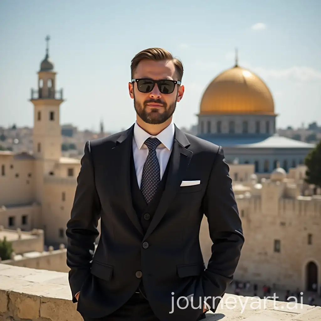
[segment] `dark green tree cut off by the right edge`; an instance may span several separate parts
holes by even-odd
[[[307,166],[306,182],[321,187],[321,140],[316,147],[309,152],[304,163]]]

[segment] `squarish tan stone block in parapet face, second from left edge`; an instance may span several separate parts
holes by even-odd
[[[9,314],[21,319],[39,317],[40,297],[11,291],[9,293]]]

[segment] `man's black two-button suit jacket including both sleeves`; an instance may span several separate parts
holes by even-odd
[[[192,295],[196,307],[199,298],[210,297],[215,311],[212,298],[223,296],[232,281],[244,243],[229,166],[220,146],[175,126],[165,190],[143,233],[130,191],[133,129],[85,145],[66,230],[72,295],[80,291],[82,315],[103,317],[123,305],[143,280],[160,320],[194,321],[199,311],[191,303],[179,309],[177,298]],[[180,187],[183,180],[201,183]],[[199,243],[204,214],[213,241],[206,269]]]

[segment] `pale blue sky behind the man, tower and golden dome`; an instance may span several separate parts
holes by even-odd
[[[184,97],[174,122],[190,126],[207,84],[234,64],[256,72],[272,91],[277,126],[321,124],[321,1],[0,2],[0,126],[33,126],[30,88],[50,35],[61,123],[117,131],[132,125],[130,61],[163,47],[184,64]]]

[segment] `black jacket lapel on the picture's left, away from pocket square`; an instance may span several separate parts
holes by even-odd
[[[119,191],[117,194],[119,194],[119,197],[121,197],[124,202],[129,219],[133,222],[137,230],[143,234],[142,226],[134,211],[130,189],[130,156],[133,148],[133,131],[134,125],[117,139],[116,146],[112,148],[111,157],[113,159],[111,159],[111,164],[113,166],[112,172],[116,183],[115,186]]]

